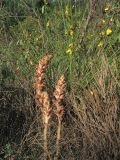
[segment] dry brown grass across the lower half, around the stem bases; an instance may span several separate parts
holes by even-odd
[[[57,142],[60,160],[119,160],[120,121],[118,112],[120,108],[119,97],[116,92],[118,81],[116,81],[117,78],[111,71],[107,59],[103,56],[101,67],[94,76],[95,81],[93,84],[81,93],[78,93],[75,87],[72,88],[71,92],[66,91],[64,99],[65,113],[59,132],[62,133],[62,137],[58,138]],[[6,98],[7,100],[9,99],[8,97]],[[22,133],[20,142],[17,143],[12,140],[13,153],[11,156],[14,156],[17,160],[42,160],[45,158],[43,114],[38,112],[40,109],[35,106],[33,93],[25,97],[24,103],[21,104],[21,101],[19,101],[16,105],[18,106],[17,112],[22,110],[25,116],[25,122],[19,121],[19,124],[23,123],[21,130],[25,132]],[[3,98],[1,99],[1,104],[3,104]],[[13,99],[16,100],[15,98]],[[4,105],[4,108],[7,107],[7,105]],[[3,109],[1,110],[2,112]],[[10,117],[9,113],[8,117]],[[49,137],[47,145],[51,159],[54,159],[56,154],[57,122],[55,114],[52,115],[52,121],[50,121],[47,132]],[[3,125],[7,126],[7,123]],[[12,128],[10,130],[12,131]],[[2,129],[2,133],[4,131]],[[9,138],[10,136],[9,134]],[[6,137],[3,135],[2,139],[1,147],[8,142],[4,141]]]

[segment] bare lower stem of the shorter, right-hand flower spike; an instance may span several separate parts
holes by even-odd
[[[57,139],[56,139],[56,157],[55,157],[55,160],[58,160],[58,158],[59,158],[60,139],[61,139],[61,118],[58,117]]]

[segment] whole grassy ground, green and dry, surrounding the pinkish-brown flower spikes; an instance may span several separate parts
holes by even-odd
[[[50,95],[64,74],[61,160],[120,158],[120,3],[1,1],[0,158],[43,159],[42,115],[34,76],[43,55]],[[49,126],[55,156],[57,120]]]

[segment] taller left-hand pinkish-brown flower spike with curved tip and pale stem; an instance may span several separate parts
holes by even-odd
[[[40,61],[36,69],[35,75],[35,90],[36,90],[36,103],[40,107],[42,112],[42,119],[44,124],[44,159],[47,160],[49,156],[48,152],[48,124],[51,117],[52,108],[50,106],[50,98],[46,91],[44,91],[45,83],[45,71],[52,56],[44,56]]]

